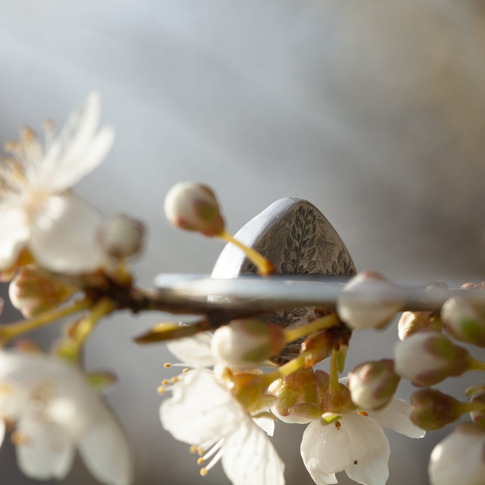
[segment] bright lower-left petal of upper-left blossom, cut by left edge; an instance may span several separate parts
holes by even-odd
[[[23,210],[10,203],[0,204],[0,271],[12,266],[30,237]]]

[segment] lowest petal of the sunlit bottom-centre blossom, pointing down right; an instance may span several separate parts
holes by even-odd
[[[247,416],[224,442],[222,466],[234,485],[284,485],[285,465],[264,432]]]

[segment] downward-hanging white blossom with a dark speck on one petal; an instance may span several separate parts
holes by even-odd
[[[389,441],[383,427],[420,438],[424,431],[409,420],[410,404],[392,399],[384,408],[367,413],[344,413],[336,423],[312,420],[303,434],[301,454],[318,485],[336,484],[335,473],[365,485],[384,485],[388,479]]]

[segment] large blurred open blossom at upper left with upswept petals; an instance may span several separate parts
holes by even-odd
[[[46,130],[45,146],[30,129],[6,144],[12,157],[0,167],[0,271],[28,247],[54,272],[82,273],[105,259],[97,242],[100,216],[68,190],[102,162],[114,130],[98,130],[99,95],[89,94],[57,137]]]

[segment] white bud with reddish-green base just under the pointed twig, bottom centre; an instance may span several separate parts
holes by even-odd
[[[219,327],[211,342],[216,360],[233,369],[257,367],[284,346],[283,329],[257,318],[233,320]]]

